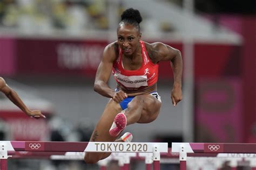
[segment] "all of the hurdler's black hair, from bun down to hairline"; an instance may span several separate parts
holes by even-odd
[[[122,13],[121,23],[122,22],[137,27],[138,31],[140,32],[139,23],[142,22],[142,16],[138,10],[129,8]]]

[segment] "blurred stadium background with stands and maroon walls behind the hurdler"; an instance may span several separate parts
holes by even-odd
[[[47,117],[30,119],[0,94],[0,140],[89,140],[108,100],[93,91],[96,69],[116,40],[120,14],[132,7],[142,13],[143,40],[178,48],[184,60],[183,101],[172,107],[172,70],[161,62],[161,113],[153,123],[127,127],[134,141],[256,143],[255,6],[253,0],[0,1],[0,76]],[[8,166],[97,169],[82,161]]]

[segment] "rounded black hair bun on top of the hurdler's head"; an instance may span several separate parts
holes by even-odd
[[[135,20],[137,23],[141,23],[142,16],[140,16],[140,12],[138,10],[129,8],[122,13],[121,20]]]

